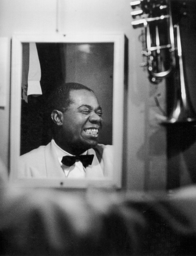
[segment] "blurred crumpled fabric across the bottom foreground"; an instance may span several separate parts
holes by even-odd
[[[0,179],[0,255],[196,255],[196,187],[21,189]]]

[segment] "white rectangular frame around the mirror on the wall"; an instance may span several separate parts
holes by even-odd
[[[73,187],[89,185],[108,187],[122,186],[123,154],[123,101],[124,101],[124,55],[126,37],[122,33],[66,34],[66,35],[13,35],[11,59],[11,126],[10,126],[10,183],[23,187]],[[22,43],[114,43],[113,69],[113,146],[114,171],[109,177],[98,180],[34,179],[17,178],[20,156],[20,117],[22,82]]]

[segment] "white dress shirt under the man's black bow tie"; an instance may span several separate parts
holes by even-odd
[[[69,154],[68,152],[66,152],[65,150],[63,150],[62,148],[60,148],[54,141],[54,139],[52,139],[51,143],[53,144],[53,148],[55,150],[55,153],[58,157],[58,161],[60,163],[61,168],[64,171],[65,177],[66,178],[85,178],[85,167],[83,167],[83,164],[81,161],[76,160],[76,163],[74,163],[74,165],[72,166],[66,166],[64,165],[61,160],[64,156],[73,156],[71,154]],[[83,152],[82,155],[86,155],[87,151]]]

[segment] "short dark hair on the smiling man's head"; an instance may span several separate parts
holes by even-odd
[[[70,92],[74,90],[87,90],[93,92],[89,87],[80,83],[62,83],[49,95],[47,100],[47,111],[49,111],[50,114],[54,109],[61,110],[64,108],[64,111],[66,111],[69,105],[73,103],[70,98]]]

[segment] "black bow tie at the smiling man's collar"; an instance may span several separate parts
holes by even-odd
[[[62,158],[62,163],[67,166],[74,165],[76,160],[82,162],[83,166],[86,168],[87,165],[91,165],[93,162],[94,155],[80,155],[80,156],[64,156]]]

